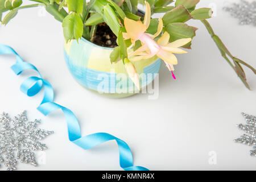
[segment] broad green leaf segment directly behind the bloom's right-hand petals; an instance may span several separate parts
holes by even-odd
[[[166,31],[170,34],[170,41],[174,42],[178,39],[193,38],[196,35],[196,27],[188,26],[186,23],[170,23],[166,26]],[[191,42],[183,46],[184,48],[191,48]]]

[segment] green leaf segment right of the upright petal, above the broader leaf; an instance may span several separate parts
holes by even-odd
[[[189,14],[188,10],[185,9],[184,6],[177,6],[175,9],[168,11],[163,16],[163,24],[166,26],[169,23],[174,22],[187,22],[187,20],[191,19],[191,15]]]

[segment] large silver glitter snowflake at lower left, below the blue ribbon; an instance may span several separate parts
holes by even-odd
[[[17,168],[18,160],[22,163],[37,166],[36,150],[45,150],[46,144],[40,143],[53,131],[37,129],[40,124],[38,119],[28,121],[26,111],[11,119],[9,114],[0,116],[0,163],[8,171]]]

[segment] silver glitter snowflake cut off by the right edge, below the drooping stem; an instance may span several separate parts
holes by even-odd
[[[251,156],[256,156],[256,116],[242,113],[245,118],[246,125],[237,125],[238,129],[244,131],[240,138],[234,139],[234,142],[243,143],[247,146],[253,146],[253,150],[250,150]]]

